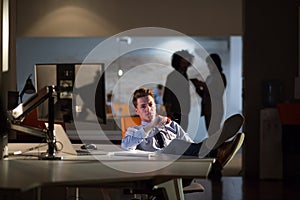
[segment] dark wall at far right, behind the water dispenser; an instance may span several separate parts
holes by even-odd
[[[298,72],[298,0],[245,0],[243,34],[245,177],[259,177],[261,81],[277,79],[283,100],[294,100]],[[291,163],[293,164],[293,163]]]

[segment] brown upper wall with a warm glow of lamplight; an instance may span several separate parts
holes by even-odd
[[[242,33],[242,0],[17,0],[17,37],[111,36],[163,27],[195,36]]]

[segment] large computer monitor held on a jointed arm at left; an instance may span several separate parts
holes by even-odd
[[[54,121],[94,120],[106,124],[105,75],[102,63],[36,64],[35,87],[57,87]],[[74,113],[75,112],[75,113]],[[38,120],[47,121],[47,101],[37,108]]]

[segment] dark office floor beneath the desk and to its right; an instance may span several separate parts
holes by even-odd
[[[296,181],[245,181],[241,176],[224,176],[219,182],[203,179],[197,182],[205,187],[205,191],[185,194],[185,200],[286,200],[297,199],[300,195],[300,183]],[[133,199],[133,195],[124,194],[120,189],[104,191],[99,188],[81,188],[79,199]],[[66,199],[76,199],[72,194],[74,195],[74,192],[71,192]]]

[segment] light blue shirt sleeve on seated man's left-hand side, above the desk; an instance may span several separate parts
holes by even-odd
[[[146,132],[142,126],[129,127],[122,139],[121,147],[125,150],[135,150],[145,137]]]

